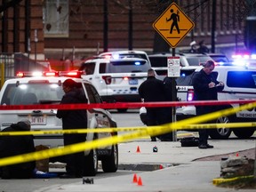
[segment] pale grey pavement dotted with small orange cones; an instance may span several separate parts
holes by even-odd
[[[131,116],[130,116],[130,115]],[[127,124],[140,125],[137,113],[118,115],[114,113],[119,126]],[[128,122],[124,122],[124,119]],[[139,123],[138,123],[139,122]],[[118,122],[117,122],[118,123]],[[196,191],[219,192],[233,191],[230,188],[217,188],[212,185],[212,180],[220,176],[220,161],[194,161],[205,156],[228,156],[230,153],[240,153],[248,148],[255,148],[254,140],[210,140],[212,149],[199,149],[196,147],[181,148],[180,142],[151,142],[148,139],[134,140],[119,144],[119,163],[130,164],[136,167],[139,164],[161,165],[164,169],[154,172],[138,172],[118,170],[116,173],[99,173],[93,177],[94,184],[83,184],[82,179],[60,180],[31,179],[31,180],[0,180],[1,191],[12,192],[70,192],[70,191]],[[153,152],[153,147],[158,152]],[[137,148],[140,148],[140,153]],[[160,168],[160,166],[159,166]],[[132,183],[136,173],[142,185]],[[239,190],[252,191],[252,190]]]

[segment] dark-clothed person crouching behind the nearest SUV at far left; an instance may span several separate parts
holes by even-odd
[[[23,120],[17,124],[11,124],[2,132],[22,132],[30,131],[30,122]],[[33,135],[0,136],[0,157],[18,156],[35,152]],[[29,179],[33,177],[36,169],[36,162],[26,162],[22,164],[11,164],[1,167],[2,179]]]

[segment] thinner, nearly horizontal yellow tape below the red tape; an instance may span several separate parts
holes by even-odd
[[[159,125],[157,127],[162,127]],[[247,123],[222,123],[222,124],[183,124],[180,127],[175,127],[175,130],[194,130],[194,129],[213,129],[213,128],[246,128],[256,127],[255,122]],[[81,134],[95,132],[134,132],[148,127],[123,127],[123,128],[96,128],[96,129],[71,129],[71,130],[49,130],[49,131],[24,131],[24,132],[0,132],[0,136],[17,136],[17,135],[46,135],[46,134]]]

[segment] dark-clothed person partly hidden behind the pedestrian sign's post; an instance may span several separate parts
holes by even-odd
[[[174,82],[173,82],[174,81]],[[164,77],[164,96],[166,101],[176,101],[177,100],[177,89],[176,89],[175,78],[165,76]],[[172,87],[174,86],[174,87]],[[173,92],[174,91],[174,92]],[[173,97],[172,97],[173,94]],[[174,100],[173,100],[174,98]],[[164,124],[172,123],[172,107],[164,108]],[[168,132],[162,135],[162,140],[172,141],[172,132]]]

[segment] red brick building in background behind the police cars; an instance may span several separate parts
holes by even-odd
[[[196,24],[177,50],[188,49],[191,41],[203,39],[211,48],[212,15],[216,16],[213,38],[216,52],[227,47],[234,52],[244,45],[244,20],[250,11],[244,1],[175,2]],[[212,9],[213,2],[216,10]],[[155,46],[162,43],[161,39],[156,40],[152,24],[172,1],[2,0],[1,3],[1,52],[29,53],[31,59],[38,60],[74,60],[103,50],[153,52],[154,43]]]

